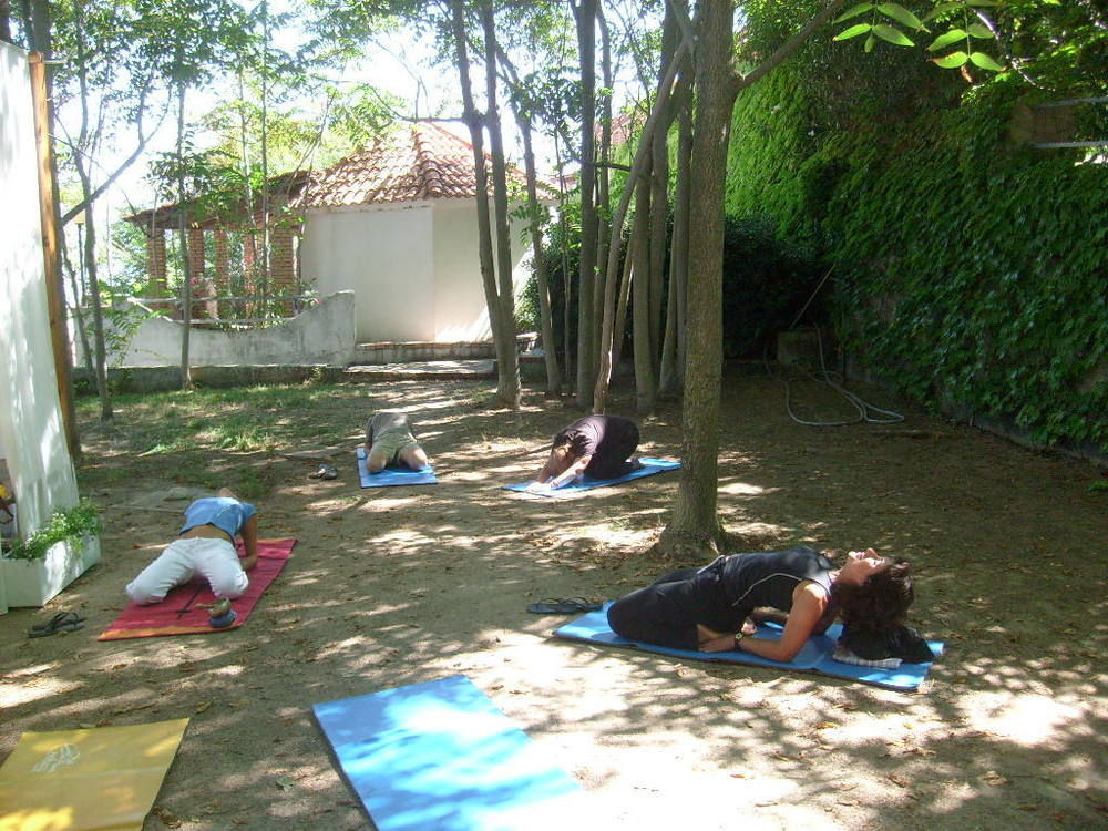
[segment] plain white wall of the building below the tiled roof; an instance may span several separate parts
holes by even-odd
[[[513,280],[526,285],[522,223],[513,224]],[[318,290],[357,295],[358,342],[488,340],[472,199],[401,207],[312,209],[301,276]]]

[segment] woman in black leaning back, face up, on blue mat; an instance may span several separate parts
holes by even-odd
[[[841,567],[803,546],[729,554],[667,574],[616,601],[608,607],[608,625],[630,640],[707,653],[738,649],[790,661],[809,637],[823,634],[839,617],[842,643],[859,655],[884,652],[878,657],[931,660],[926,643],[905,635],[911,630],[904,618],[915,597],[910,571],[906,562],[873,548],[851,552]],[[780,613],[780,640],[748,637],[757,628],[755,619]]]

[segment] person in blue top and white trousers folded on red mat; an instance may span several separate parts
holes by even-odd
[[[242,537],[238,556],[235,538]],[[185,524],[177,538],[127,584],[127,596],[137,604],[158,603],[174,586],[199,575],[216,597],[235,599],[250,581],[246,572],[258,562],[258,511],[226,488],[215,496],[198,499],[185,509]]]

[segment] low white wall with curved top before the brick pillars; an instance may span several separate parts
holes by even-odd
[[[182,324],[167,317],[142,322],[124,356],[112,355],[113,367],[174,367],[181,363]],[[266,363],[332,363],[353,360],[355,296],[339,291],[322,298],[280,326],[243,331],[193,327],[188,335],[188,362],[195,367]],[[84,366],[78,340],[76,366]]]

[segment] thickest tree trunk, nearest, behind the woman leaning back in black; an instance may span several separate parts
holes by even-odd
[[[738,83],[731,66],[731,4],[706,3],[697,17],[681,471],[674,510],[658,544],[668,554],[702,556],[706,551],[718,552],[725,542],[717,513],[724,183]]]

